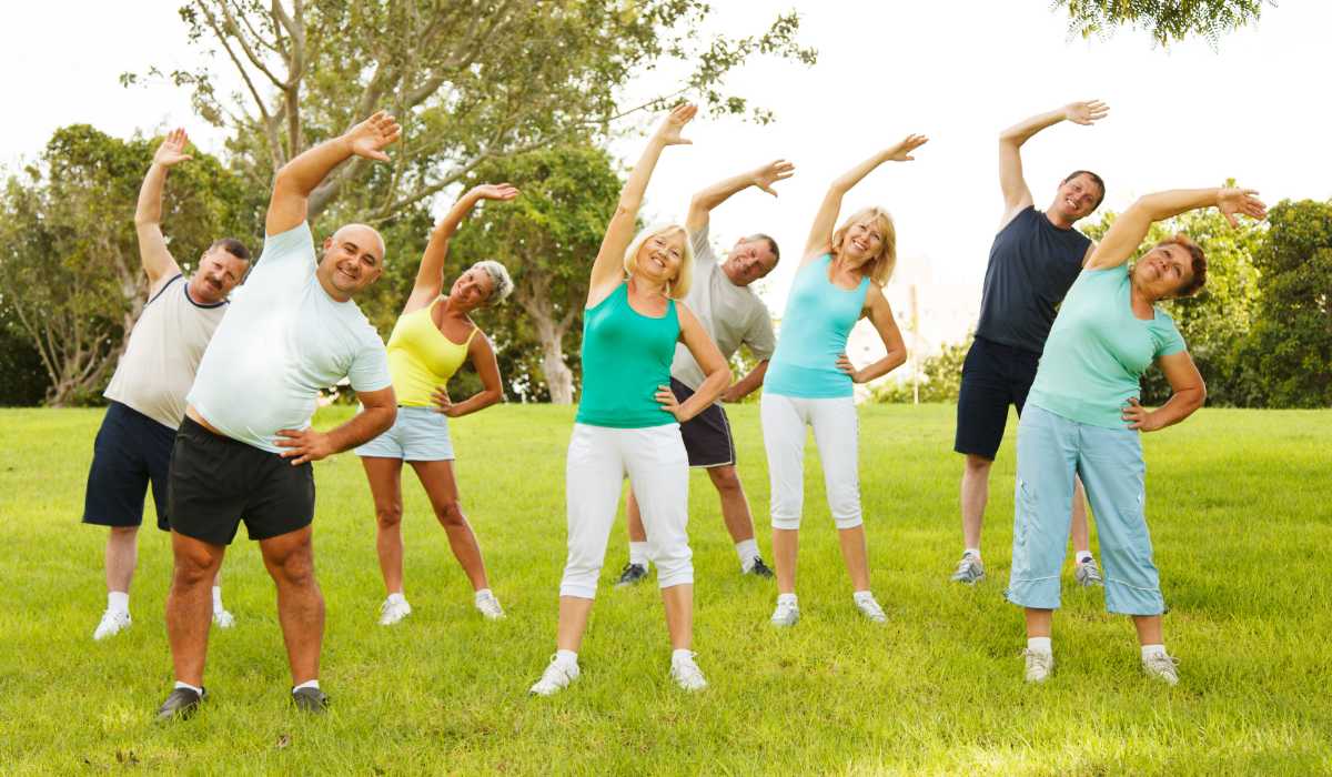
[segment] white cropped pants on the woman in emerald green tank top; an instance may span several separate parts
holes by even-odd
[[[569,560],[559,596],[597,597],[625,474],[647,529],[661,588],[694,582],[689,549],[689,456],[679,425],[613,429],[574,424],[565,466]]]

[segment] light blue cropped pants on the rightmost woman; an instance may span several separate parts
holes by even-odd
[[[1027,402],[1018,422],[1012,573],[1004,596],[1036,609],[1059,608],[1068,546],[1074,472],[1096,516],[1106,566],[1106,609],[1131,616],[1166,610],[1144,513],[1147,464],[1139,433],[1079,424]]]

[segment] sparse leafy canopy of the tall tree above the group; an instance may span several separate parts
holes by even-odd
[[[710,12],[703,0],[194,0],[180,9],[190,40],[217,47],[244,91],[225,93],[208,67],[170,77],[193,89],[201,116],[234,131],[230,151],[261,189],[309,145],[376,108],[396,112],[394,164],[350,160],[310,199],[312,219],[338,204],[342,219],[378,224],[488,160],[605,131],[635,111],[617,105],[626,87],[673,63],[691,71],[638,108],[694,92],[767,120],[722,81],[753,55],[813,64],[795,43],[797,16],[705,40]]]

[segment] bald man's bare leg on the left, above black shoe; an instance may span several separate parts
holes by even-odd
[[[166,638],[176,680],[201,688],[208,658],[208,624],[213,613],[212,582],[225,545],[170,533],[174,569],[166,596]]]

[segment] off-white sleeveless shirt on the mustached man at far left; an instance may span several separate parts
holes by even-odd
[[[182,276],[166,281],[144,305],[103,396],[178,428],[185,394],[225,313],[225,301],[201,305],[192,300]]]

